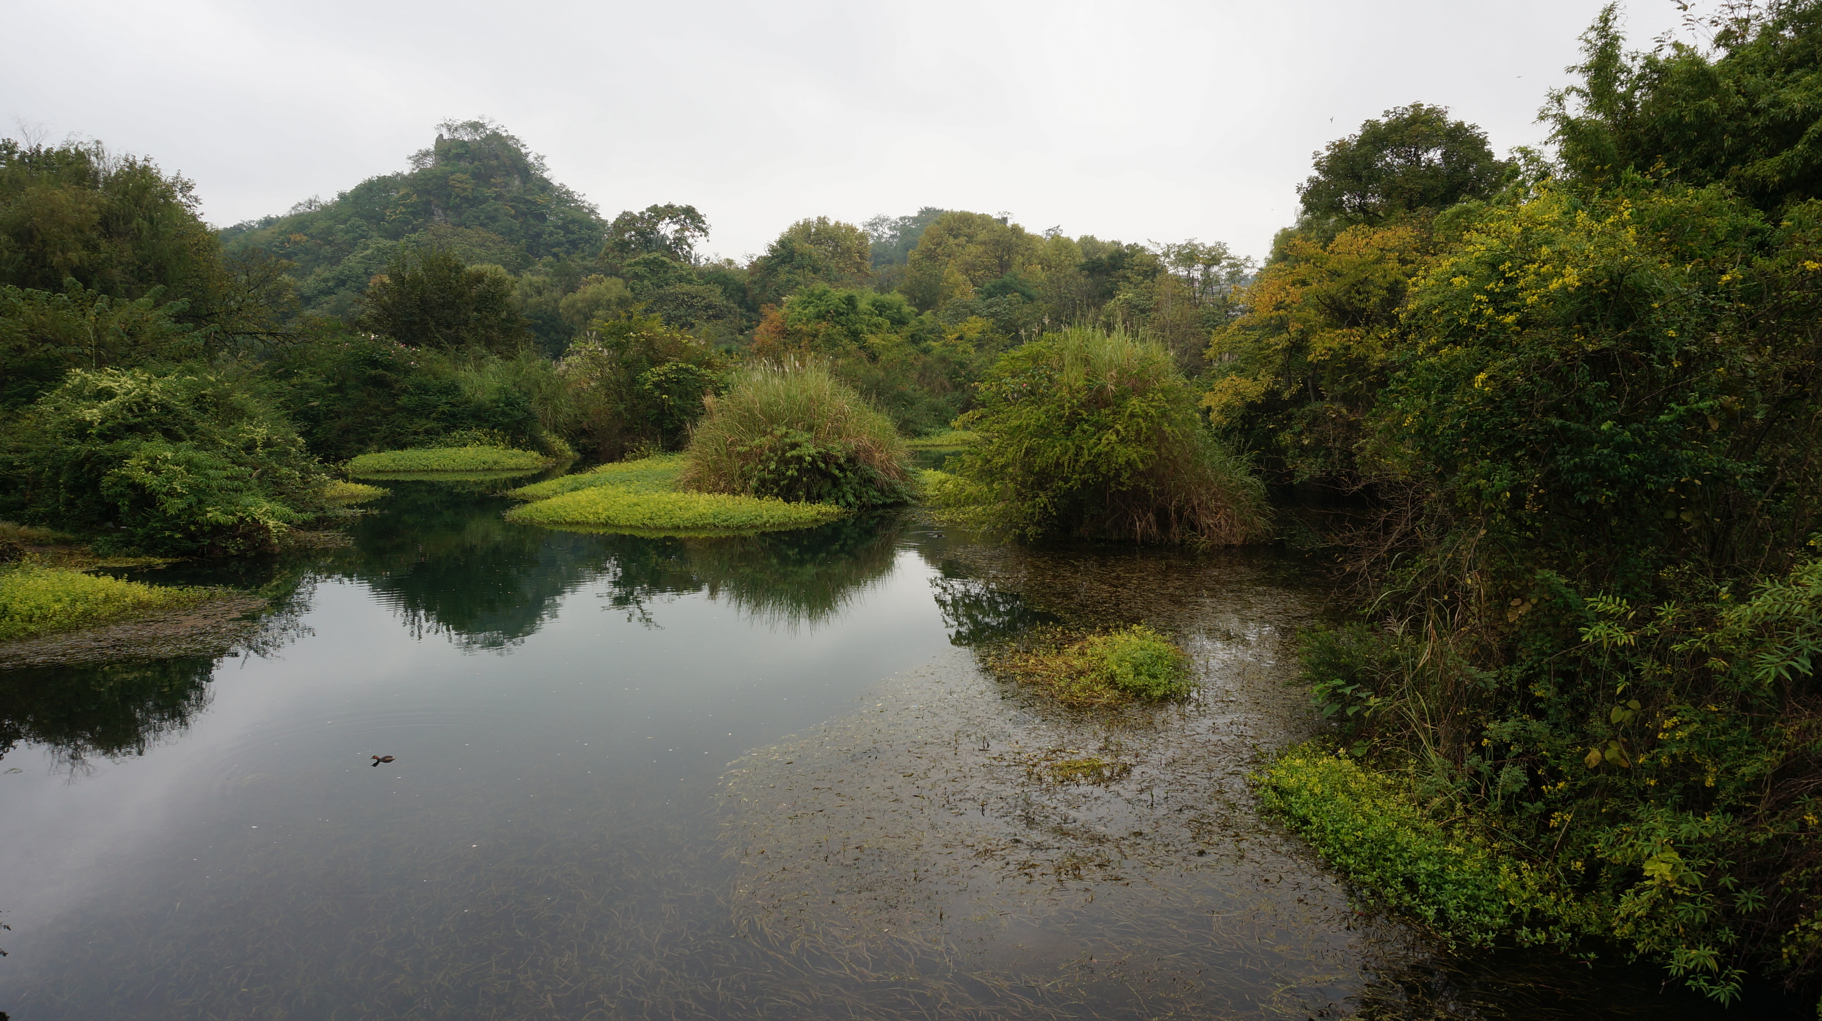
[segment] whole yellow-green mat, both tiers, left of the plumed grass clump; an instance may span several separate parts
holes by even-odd
[[[665,455],[547,479],[508,493],[532,502],[507,511],[507,521],[641,535],[727,535],[811,528],[847,513],[833,504],[678,491],[681,471],[683,457]]]

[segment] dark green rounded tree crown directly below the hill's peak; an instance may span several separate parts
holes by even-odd
[[[363,329],[412,348],[512,353],[530,340],[512,278],[446,251],[397,253],[361,297]]]

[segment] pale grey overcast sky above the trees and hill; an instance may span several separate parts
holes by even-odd
[[[213,224],[492,116],[601,213],[742,257],[920,206],[1263,255],[1310,153],[1414,100],[1538,144],[1600,0],[9,4],[0,115],[153,157]],[[1633,0],[1634,45],[1678,22]],[[18,135],[11,120],[0,126]]]

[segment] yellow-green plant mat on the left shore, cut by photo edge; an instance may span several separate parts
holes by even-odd
[[[122,617],[195,606],[197,588],[169,588],[66,568],[0,568],[0,641],[93,628]]]

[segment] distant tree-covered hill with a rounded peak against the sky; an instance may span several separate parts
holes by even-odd
[[[470,264],[525,273],[541,260],[594,258],[607,222],[545,177],[525,144],[486,120],[445,122],[408,171],[372,177],[332,202],[220,233],[230,251],[262,249],[295,264],[306,311],[352,317],[355,300],[401,248],[446,249]]]

